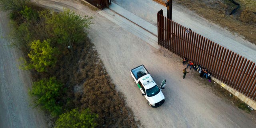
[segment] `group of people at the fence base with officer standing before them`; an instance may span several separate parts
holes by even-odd
[[[186,59],[186,58],[183,58],[182,64],[185,65],[186,62],[187,62],[187,59]],[[191,61],[191,60],[188,61],[187,67],[183,69],[183,79],[185,78],[186,74],[189,73],[189,72],[186,71],[186,69],[187,69],[189,66],[190,66],[190,70],[191,70],[191,68],[193,68],[196,72],[199,72],[201,78],[206,78],[206,79],[211,80],[211,77],[210,77],[211,74],[210,74],[210,72],[209,72],[207,69],[202,68],[200,65],[194,64],[194,62]]]

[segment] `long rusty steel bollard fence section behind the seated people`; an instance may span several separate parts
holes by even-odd
[[[256,101],[255,63],[157,14],[158,45],[186,57],[212,72],[212,76]]]

